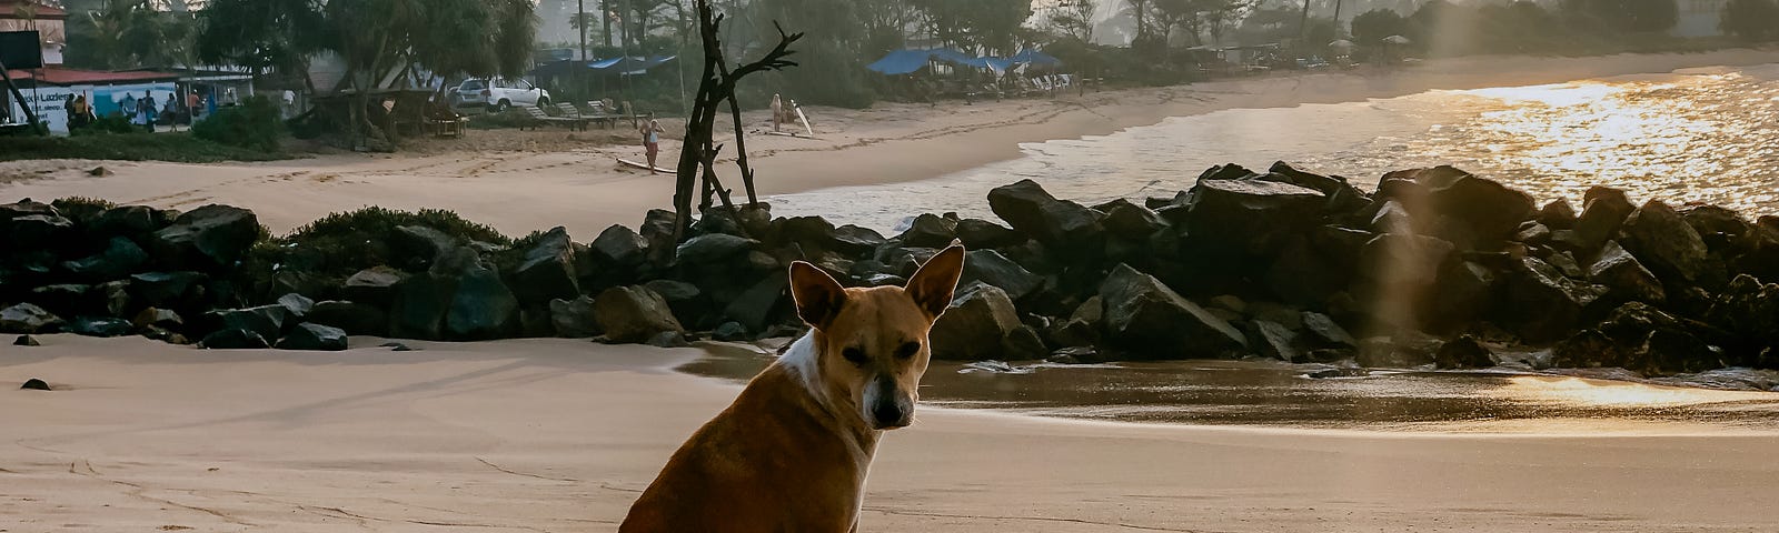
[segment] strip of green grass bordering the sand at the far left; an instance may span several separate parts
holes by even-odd
[[[0,137],[0,162],[18,160],[123,160],[123,162],[276,162],[281,151],[224,146],[176,133],[93,133],[76,137]]]

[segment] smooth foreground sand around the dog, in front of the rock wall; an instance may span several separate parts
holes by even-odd
[[[0,531],[614,531],[737,386],[532,339],[0,348]],[[354,338],[356,346],[379,339]],[[59,391],[18,391],[27,377]],[[1779,435],[1489,437],[925,409],[865,531],[1770,531]]]

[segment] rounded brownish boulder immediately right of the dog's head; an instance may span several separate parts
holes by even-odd
[[[952,306],[932,325],[934,359],[982,361],[1005,359],[1003,341],[1019,323],[1007,291],[989,284],[968,284],[952,298]]]

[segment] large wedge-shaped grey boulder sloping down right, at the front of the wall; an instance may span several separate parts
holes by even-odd
[[[1247,338],[1153,275],[1119,265],[1099,286],[1112,343],[1140,359],[1229,357]]]

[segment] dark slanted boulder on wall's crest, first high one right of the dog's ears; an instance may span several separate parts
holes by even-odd
[[[1103,238],[1099,211],[1060,201],[1032,179],[989,190],[989,210],[1046,245],[1092,245]]]

